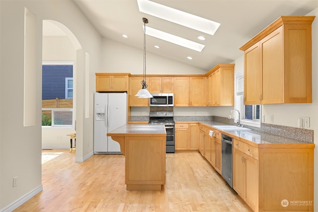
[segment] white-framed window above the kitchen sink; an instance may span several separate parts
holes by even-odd
[[[235,76],[236,83],[236,109],[240,111],[240,123],[253,127],[260,127],[260,105],[244,105],[244,71],[239,71]]]

